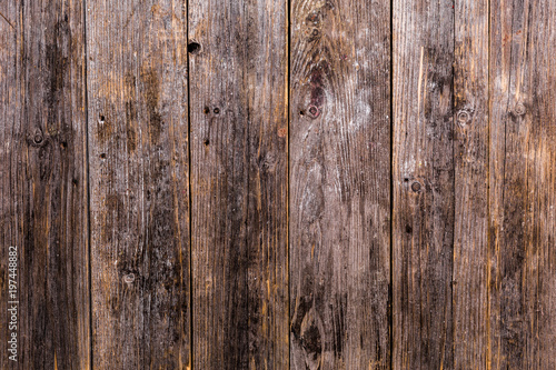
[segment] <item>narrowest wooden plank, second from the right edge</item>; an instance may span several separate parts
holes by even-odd
[[[455,2],[455,369],[485,369],[487,360],[488,4]]]

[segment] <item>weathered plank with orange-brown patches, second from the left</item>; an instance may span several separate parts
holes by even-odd
[[[189,340],[187,9],[87,9],[93,364],[185,369]]]

